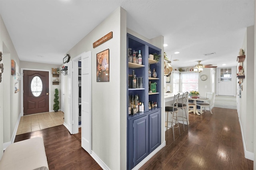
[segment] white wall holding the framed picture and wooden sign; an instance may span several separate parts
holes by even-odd
[[[120,27],[126,28],[126,12],[122,8],[115,10],[67,52],[72,59],[84,51],[92,51],[92,152],[113,170],[126,169],[126,98],[120,100],[126,94],[126,89],[121,89],[126,84],[123,71],[126,68],[126,29],[121,31]],[[113,32],[112,39],[92,47],[109,32]],[[120,40],[124,43],[122,47]],[[110,50],[109,82],[96,82],[96,54],[105,49]],[[125,149],[121,150],[121,146]]]

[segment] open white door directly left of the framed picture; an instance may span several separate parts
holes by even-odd
[[[81,146],[89,154],[92,153],[92,52],[82,53],[81,56],[82,72],[82,113],[81,113]]]

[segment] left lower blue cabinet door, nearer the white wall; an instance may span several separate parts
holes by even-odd
[[[148,116],[133,122],[134,166],[148,156]]]

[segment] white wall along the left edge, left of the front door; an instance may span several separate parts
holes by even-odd
[[[0,16],[0,51],[3,53],[4,72],[0,83],[0,158],[4,143],[10,143],[15,137],[14,130],[20,115],[20,93],[14,93],[14,77],[11,76],[10,61],[14,59],[20,65],[12,40]],[[19,71],[19,70],[16,70]],[[9,104],[7,104],[9,103]],[[12,108],[14,107],[14,108]]]

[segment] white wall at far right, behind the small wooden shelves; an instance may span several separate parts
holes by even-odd
[[[246,58],[244,60],[243,91],[241,93],[240,103],[240,126],[244,144],[245,157],[253,160],[254,152],[254,26],[250,26],[246,30],[242,48],[245,51]]]

